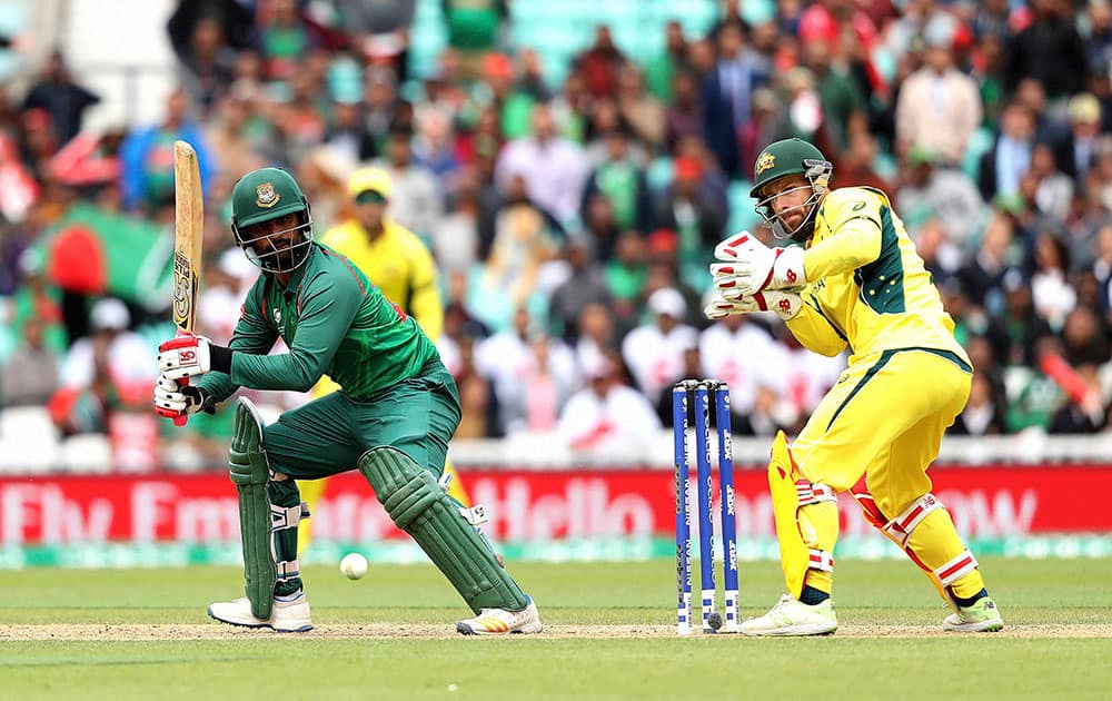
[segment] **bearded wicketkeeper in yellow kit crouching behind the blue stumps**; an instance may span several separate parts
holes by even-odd
[[[923,569],[953,609],[949,631],[1004,626],[926,471],[969,399],[973,368],[888,197],[830,189],[833,167],[800,139],[776,141],[753,169],[757,211],[778,238],[743,231],[715,249],[711,318],[773,310],[807,348],[850,363],[788,445],[772,446],[772,492],[787,594],[742,624],[748,635],[833,633],[836,494]]]

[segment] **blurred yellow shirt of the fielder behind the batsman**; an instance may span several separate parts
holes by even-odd
[[[374,240],[358,221],[329,229],[321,243],[354,263],[387,299],[417,319],[435,343],[444,328],[444,305],[436,264],[428,248],[408,229],[387,220]]]

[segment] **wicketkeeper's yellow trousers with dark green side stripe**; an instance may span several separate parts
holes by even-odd
[[[874,523],[894,520],[914,511],[916,500],[930,493],[927,468],[939,455],[943,433],[969,399],[971,379],[972,368],[943,350],[885,350],[863,357],[823,397],[793,443],[792,456],[804,477],[834,492],[845,492],[864,477],[881,516],[877,522],[874,513]],[[801,509],[802,516],[814,512],[807,521],[815,529],[815,544],[825,552],[833,552],[837,540],[837,519],[823,511],[831,507]],[[936,586],[936,573],[966,553],[945,509],[932,511],[901,545]],[[810,570],[806,584],[830,592],[831,574]],[[982,586],[976,569],[952,583],[962,598]],[[940,586],[944,598],[945,589]]]

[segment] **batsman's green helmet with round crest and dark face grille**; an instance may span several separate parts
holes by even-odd
[[[298,224],[281,231],[252,231],[252,227],[297,214]],[[309,201],[286,170],[259,168],[236,181],[231,190],[231,230],[236,244],[255,265],[271,273],[294,270],[309,255],[312,217]],[[286,237],[286,234],[292,234]],[[271,237],[276,237],[272,239]]]

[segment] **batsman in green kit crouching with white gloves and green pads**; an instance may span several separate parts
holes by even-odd
[[[305,392],[328,374],[339,392],[264,425],[239,398],[229,450],[239,494],[247,596],[210,616],[276,631],[312,628],[297,564],[308,516],[298,480],[358,470],[399,529],[421,546],[476,614],[464,634],[536,633],[533,600],[440,486],[460,418],[436,346],[347,258],[314,243],[309,203],[278,168],[232,190],[236,243],[262,269],[228,346],[185,335],[159,347],[155,409],[168,417],[216,404],[239,387]],[[289,353],[267,355],[281,338]]]

